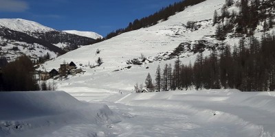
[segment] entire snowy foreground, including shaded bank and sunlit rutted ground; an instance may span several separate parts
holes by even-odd
[[[1,93],[0,136],[275,136],[274,92],[86,92],[76,97],[83,101],[65,92]]]

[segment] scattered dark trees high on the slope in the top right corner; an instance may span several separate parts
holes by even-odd
[[[228,11],[230,6],[235,5],[239,12]],[[263,32],[267,32],[274,25],[272,9],[275,8],[274,0],[241,0],[234,2],[226,0],[219,14],[214,11],[213,26],[217,25],[217,40],[224,40],[227,33],[254,35],[255,29],[261,25]]]

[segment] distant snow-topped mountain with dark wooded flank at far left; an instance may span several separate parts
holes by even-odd
[[[91,45],[96,40],[45,27],[34,21],[20,18],[0,19],[0,55],[14,60],[18,55],[29,55],[32,60],[50,55],[56,58],[67,51],[83,45]]]

